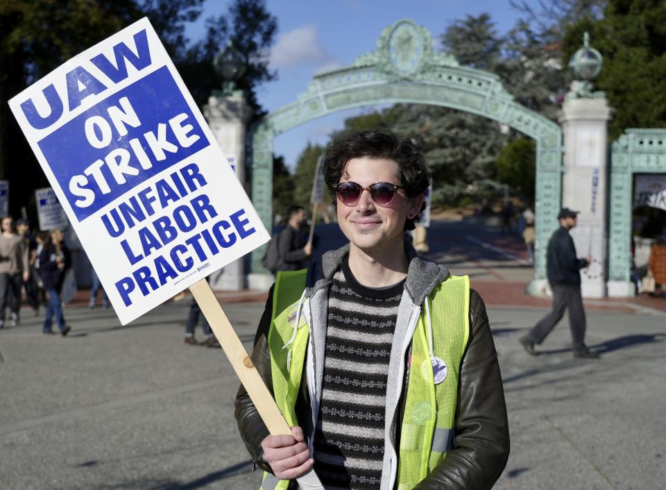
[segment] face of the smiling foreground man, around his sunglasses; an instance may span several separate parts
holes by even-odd
[[[340,182],[355,182],[362,187],[378,182],[400,185],[400,169],[393,160],[352,158]],[[355,205],[337,200],[338,223],[352,248],[366,252],[391,248],[402,251],[404,221],[418,213],[421,203],[422,196],[409,199],[404,189],[398,189],[390,203],[379,206],[370,198],[370,192],[364,190]]]

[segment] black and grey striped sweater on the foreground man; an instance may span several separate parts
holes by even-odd
[[[379,489],[388,361],[404,280],[364,287],[347,260],[329,292],[314,469],[326,489]]]

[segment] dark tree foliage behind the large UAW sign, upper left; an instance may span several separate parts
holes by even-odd
[[[241,87],[248,90],[255,112],[260,112],[254,91],[275,76],[262,56],[273,42],[275,17],[266,10],[264,0],[235,0],[228,15],[210,19],[204,39],[191,44],[185,24],[200,17],[203,1],[0,1],[0,178],[11,183],[11,212],[34,206],[33,190],[49,184],[7,101],[72,56],[142,17],[150,19],[198,103],[204,103],[210,90],[219,86],[212,57],[232,36],[250,62]]]

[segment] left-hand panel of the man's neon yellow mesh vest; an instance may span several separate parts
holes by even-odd
[[[273,289],[273,314],[268,330],[268,350],[271,351],[271,372],[273,373],[273,397],[280,412],[290,427],[296,421],[296,398],[305,364],[305,352],[309,327],[305,317],[300,316],[299,327],[293,343],[293,326],[298,316],[298,303],[305,290],[307,270],[280,271],[275,278]],[[289,365],[287,363],[289,360]],[[278,480],[264,471],[261,490],[287,490],[289,480]]]

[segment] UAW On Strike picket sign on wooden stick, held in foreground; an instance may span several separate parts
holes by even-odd
[[[271,434],[291,434],[205,280],[270,236],[148,19],[10,108],[121,323],[190,288]]]

